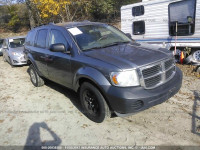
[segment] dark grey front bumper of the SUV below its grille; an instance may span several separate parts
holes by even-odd
[[[147,90],[143,87],[120,88],[111,86],[107,88],[106,98],[114,112],[123,117],[168,100],[180,90],[181,85],[182,72],[177,67],[174,77],[157,88]]]

